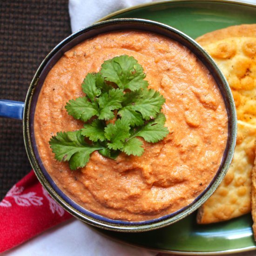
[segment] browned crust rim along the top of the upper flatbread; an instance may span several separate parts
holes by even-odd
[[[256,37],[256,24],[243,24],[237,26],[231,26],[215,30],[204,34],[198,38],[196,41],[199,44],[209,43],[216,40],[222,40],[229,37]]]

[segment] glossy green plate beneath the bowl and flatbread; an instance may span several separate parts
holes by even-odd
[[[232,25],[256,23],[256,5],[234,1],[165,1],[141,5],[105,17],[155,20],[196,38]],[[256,249],[251,216],[227,222],[197,225],[195,213],[168,227],[143,233],[119,233],[98,229],[114,239],[157,251],[198,255]]]

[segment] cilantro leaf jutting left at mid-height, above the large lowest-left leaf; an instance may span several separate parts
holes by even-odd
[[[65,108],[68,115],[72,115],[75,119],[81,119],[86,122],[94,115],[99,115],[99,109],[95,102],[89,102],[87,97],[79,97],[67,102]]]

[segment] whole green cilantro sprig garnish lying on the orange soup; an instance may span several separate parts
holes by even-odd
[[[155,143],[168,135],[161,113],[163,96],[148,89],[143,68],[128,55],[104,61],[98,73],[82,82],[84,97],[71,99],[68,115],[83,121],[78,131],[58,132],[50,148],[58,161],[68,161],[72,170],[84,167],[95,150],[115,159],[120,152],[143,154],[141,137]]]

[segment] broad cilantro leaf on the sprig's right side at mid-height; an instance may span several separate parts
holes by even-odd
[[[137,93],[139,96],[134,96],[133,100],[131,100],[131,97],[128,100],[127,96],[127,105],[118,111],[118,115],[126,116],[132,126],[142,125],[142,119],[149,120],[150,118],[155,118],[160,113],[162,104],[165,102],[164,97],[153,89],[138,90]],[[142,117],[137,114],[138,112],[141,113]]]

